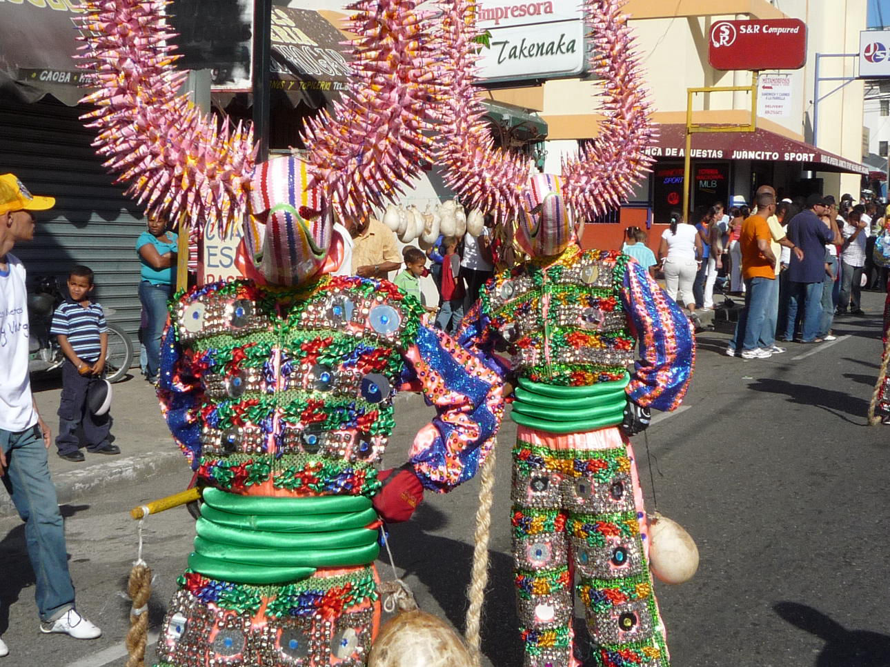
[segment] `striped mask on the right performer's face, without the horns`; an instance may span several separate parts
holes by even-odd
[[[562,181],[552,173],[531,176],[522,193],[516,221],[516,241],[531,257],[562,253],[575,238],[575,229],[562,199]]]

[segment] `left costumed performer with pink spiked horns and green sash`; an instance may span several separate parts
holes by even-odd
[[[432,157],[424,17],[406,0],[353,5],[351,91],[312,123],[306,160],[255,165],[249,131],[217,131],[176,96],[165,4],[86,4],[96,143],[150,215],[185,216],[193,234],[243,223],[253,279],[177,295],[165,333],[159,396],[207,487],[160,665],[362,665],[379,616],[378,514],[404,520],[424,487],[471,478],[503,409],[498,374],[425,327],[415,299],[328,276],[333,210],[367,214]],[[378,476],[406,387],[437,416],[409,463]]]

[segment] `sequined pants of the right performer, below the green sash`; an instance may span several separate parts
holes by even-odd
[[[616,427],[567,435],[519,427],[513,543],[525,667],[579,664],[573,590],[595,664],[668,667],[647,532],[634,454]]]

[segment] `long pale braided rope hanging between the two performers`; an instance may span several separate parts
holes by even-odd
[[[498,441],[482,465],[479,486],[479,510],[476,511],[475,547],[473,549],[473,574],[466,591],[470,607],[466,610],[466,643],[473,656],[474,667],[481,665],[481,617],[485,602],[485,587],[489,583],[489,534],[491,527],[491,502],[495,488],[495,453]]]

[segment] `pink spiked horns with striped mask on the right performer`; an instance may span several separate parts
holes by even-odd
[[[479,56],[472,4],[443,4],[442,84],[453,96],[442,104],[437,163],[444,167],[445,182],[468,205],[494,213],[501,223],[515,221],[517,240],[533,256],[561,252],[583,221],[627,198],[651,165],[643,152],[653,137],[650,106],[627,16],[621,13],[624,2],[584,2],[594,40],[590,67],[603,79],[605,119],[595,141],[563,159],[562,175],[546,178],[530,178],[529,158],[494,148],[482,120],[481,93],[473,85]]]

